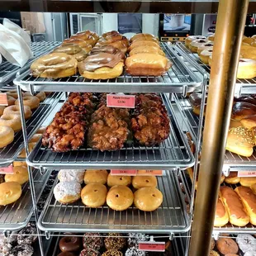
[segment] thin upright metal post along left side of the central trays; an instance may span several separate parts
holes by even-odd
[[[27,133],[26,133],[26,120],[25,120],[25,113],[24,113],[24,104],[23,104],[21,87],[19,85],[17,85],[17,93],[18,93],[18,99],[19,99],[19,107],[20,107],[20,111],[21,111],[21,126],[22,126],[22,134],[23,134],[23,139],[24,139],[24,149],[25,149],[26,158],[27,158],[29,155],[29,146],[28,146],[28,137],[27,137]],[[40,254],[41,254],[41,256],[44,256],[42,236],[40,235],[40,230],[37,226],[38,211],[37,211],[37,206],[36,206],[36,191],[35,191],[35,185],[34,185],[34,178],[33,178],[31,166],[28,165],[27,168],[28,168],[28,175],[29,175],[29,181],[30,181],[30,187],[31,187],[31,198],[32,198],[32,203],[33,203],[33,210],[34,210],[34,215],[35,215],[35,220],[36,220],[36,231],[38,234],[38,241],[39,241],[39,245],[40,245]]]

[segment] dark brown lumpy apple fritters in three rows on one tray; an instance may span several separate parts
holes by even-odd
[[[43,145],[55,152],[78,149],[121,149],[133,131],[140,145],[159,145],[170,132],[168,113],[156,94],[136,95],[135,110],[107,107],[107,95],[71,93],[43,135]],[[87,140],[86,140],[87,139]]]

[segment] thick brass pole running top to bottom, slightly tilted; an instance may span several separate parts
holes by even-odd
[[[249,0],[220,0],[189,256],[210,253],[239,50]]]

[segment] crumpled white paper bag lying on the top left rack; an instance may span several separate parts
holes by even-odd
[[[0,54],[12,64],[23,67],[33,56],[25,40],[0,24]]]

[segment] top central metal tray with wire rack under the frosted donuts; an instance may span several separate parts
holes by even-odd
[[[67,78],[50,79],[35,78],[29,70],[22,73],[15,80],[22,90],[29,91],[33,87],[36,91],[69,92],[192,92],[201,86],[201,79],[197,77],[178,58],[173,45],[162,43],[162,48],[171,60],[173,66],[162,76],[142,77],[131,76],[124,73],[118,77],[107,80],[91,80],[76,74]]]

